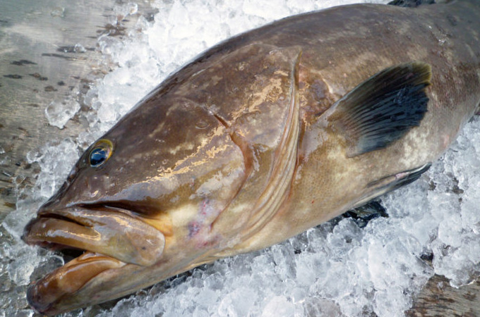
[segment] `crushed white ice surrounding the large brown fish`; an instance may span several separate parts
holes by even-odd
[[[18,187],[17,210],[0,227],[0,307],[9,307],[0,309],[0,316],[32,316],[18,310],[25,306],[30,275],[35,279],[63,261],[20,242],[25,223],[59,188],[80,152],[164,77],[239,32],[358,2],[388,0],[156,1],[155,20],[140,17],[123,41],[100,37],[100,63],[111,72],[85,96],[90,109],[79,112],[68,99],[45,111],[51,125],[60,128],[80,116],[90,128],[30,152],[28,161],[40,165],[40,177],[32,188]],[[133,3],[117,6],[112,23],[136,10]],[[403,316],[434,273],[452,285],[479,273],[479,139],[477,117],[419,181],[383,197],[390,218],[372,220],[363,229],[352,219],[337,218],[263,251],[161,282],[113,308],[94,306],[65,316]]]

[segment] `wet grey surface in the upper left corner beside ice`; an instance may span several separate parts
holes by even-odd
[[[28,151],[82,129],[75,120],[63,130],[49,126],[44,109],[66,96],[80,99],[76,92],[88,87],[87,78],[101,58],[95,51],[97,36],[107,32],[102,25],[107,25],[113,3],[0,2],[0,147],[5,151],[0,154],[0,219],[15,207],[16,175],[36,175],[25,163]],[[86,51],[74,52],[75,44]]]

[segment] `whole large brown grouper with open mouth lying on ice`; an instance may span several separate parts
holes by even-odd
[[[418,179],[479,108],[480,3],[359,4],[228,39],[80,156],[23,240],[53,315],[268,247]]]

